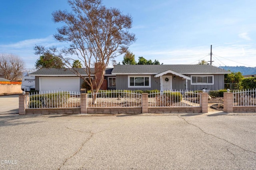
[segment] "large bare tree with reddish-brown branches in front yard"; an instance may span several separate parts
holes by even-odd
[[[71,71],[82,77],[92,90],[98,92],[109,61],[125,53],[128,46],[136,40],[135,35],[128,32],[132,27],[132,17],[122,14],[116,8],[106,8],[101,0],[68,0],[68,4],[72,7],[72,12],[58,10],[52,15],[54,22],[64,23],[64,26],[57,29],[55,39],[68,42],[70,46],[58,54],[56,48],[52,47],[50,50],[52,54],[59,56]],[[35,50],[36,54],[49,52],[49,49],[39,45]],[[77,58],[67,56],[74,54],[83,62],[88,79],[85,79],[78,69],[72,68],[72,63]],[[90,69],[94,63],[97,63],[96,69]]]

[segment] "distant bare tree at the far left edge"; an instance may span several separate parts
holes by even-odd
[[[0,53],[0,76],[18,81],[23,76],[24,61],[14,54]]]

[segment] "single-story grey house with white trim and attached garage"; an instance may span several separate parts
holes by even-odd
[[[83,68],[79,68],[79,72],[88,76]],[[229,73],[212,65],[198,64],[114,65],[106,69],[106,85],[102,89],[220,90],[224,89],[224,74]],[[29,75],[35,76],[36,90],[40,91],[80,91],[83,83],[69,68],[42,68]]]

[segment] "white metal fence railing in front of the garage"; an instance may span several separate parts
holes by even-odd
[[[29,94],[27,108],[71,108],[80,107],[80,92],[46,91]]]

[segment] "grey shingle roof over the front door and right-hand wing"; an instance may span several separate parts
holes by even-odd
[[[172,70],[180,74],[229,74],[222,68],[212,65],[114,65],[112,74],[159,74]]]

